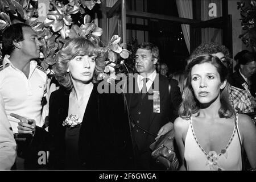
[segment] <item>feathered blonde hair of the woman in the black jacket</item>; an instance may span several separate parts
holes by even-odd
[[[68,90],[73,88],[71,76],[67,72],[68,62],[74,59],[76,56],[84,55],[96,56],[96,67],[99,60],[105,60],[102,58],[103,56],[100,47],[97,47],[83,37],[69,39],[68,42],[64,44],[63,48],[61,48],[61,50],[56,54],[56,63],[53,65],[55,78],[57,81],[59,81],[60,85],[64,86]],[[98,58],[101,57],[101,59],[97,59],[97,56]],[[95,76],[93,79],[94,78]]]

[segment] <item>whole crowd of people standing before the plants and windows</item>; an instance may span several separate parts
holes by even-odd
[[[96,67],[106,54],[73,38],[56,54],[60,88],[49,93],[40,46],[27,24],[3,32],[0,169],[158,170],[150,145],[174,130],[180,170],[242,170],[242,153],[255,170],[255,53],[237,53],[233,73],[229,50],[204,43],[170,74],[158,47],[142,43],[129,91],[100,93]]]

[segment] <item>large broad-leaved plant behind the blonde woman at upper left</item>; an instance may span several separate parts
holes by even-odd
[[[1,0],[0,31],[17,22],[29,24],[37,32],[43,44],[39,62],[49,73],[48,76],[53,75],[51,66],[55,64],[55,55],[67,39],[83,36],[97,44],[101,47],[102,52],[107,54],[106,59],[100,60],[101,63],[96,67],[96,72],[99,75],[98,80],[106,75],[112,75],[111,77],[115,78],[115,69],[126,68],[124,63],[131,52],[123,48],[123,44],[120,43],[121,38],[118,35],[112,37],[109,45],[101,42],[102,28],[97,27],[90,15],[86,14],[101,1],[51,0],[46,20],[39,22],[38,0]],[[75,16],[79,18],[73,18]],[[129,72],[128,69],[123,71]]]

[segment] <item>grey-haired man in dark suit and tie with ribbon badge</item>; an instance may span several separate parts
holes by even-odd
[[[177,81],[156,73],[158,60],[158,47],[151,43],[139,45],[135,63],[138,74],[129,80],[132,93],[128,91],[127,102],[134,123],[132,136],[138,169],[156,169],[150,162],[149,146],[172,129],[171,122],[177,118],[181,102]],[[170,110],[171,107],[175,109]]]

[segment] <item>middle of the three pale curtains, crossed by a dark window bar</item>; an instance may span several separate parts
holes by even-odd
[[[192,0],[176,0],[177,11],[180,18],[193,18]],[[190,53],[190,38],[189,38],[189,25],[181,24],[185,43]]]

